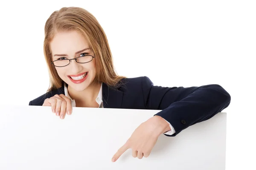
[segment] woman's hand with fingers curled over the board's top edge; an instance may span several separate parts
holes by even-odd
[[[61,119],[64,119],[66,113],[68,115],[72,113],[71,99],[64,94],[55,94],[45,99],[43,106],[52,106],[52,113],[55,113],[56,116],[60,116]]]

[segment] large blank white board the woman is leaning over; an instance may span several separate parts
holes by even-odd
[[[226,113],[175,137],[160,135],[149,157],[112,156],[157,110],[73,108],[59,119],[46,106],[2,106],[0,170],[224,170]]]

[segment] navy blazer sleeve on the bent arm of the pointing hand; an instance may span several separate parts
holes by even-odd
[[[154,86],[148,77],[143,77],[142,88],[145,107],[162,110],[155,115],[174,127],[176,133],[166,136],[176,136],[187,127],[210,119],[227,108],[231,100],[230,94],[216,84],[169,88]]]

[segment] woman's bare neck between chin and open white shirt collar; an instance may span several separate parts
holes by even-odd
[[[67,87],[67,90],[71,99],[74,99],[76,103],[95,102],[95,99],[99,94],[101,84],[101,82],[95,82],[93,84],[90,84],[83,91],[76,91],[70,86]]]

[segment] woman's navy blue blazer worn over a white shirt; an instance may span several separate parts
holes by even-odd
[[[102,83],[104,108],[161,110],[155,115],[166,119],[174,127],[176,136],[182,130],[198,122],[210,119],[227,108],[230,94],[220,85],[200,87],[154,86],[148,77],[122,79],[124,85],[117,90]],[[55,94],[64,94],[64,86],[48,92],[29,102],[29,105],[43,105],[44,100]]]

